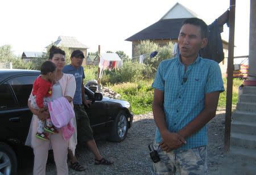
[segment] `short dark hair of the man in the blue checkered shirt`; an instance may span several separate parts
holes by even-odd
[[[203,20],[201,20],[199,18],[188,18],[188,19],[184,20],[181,27],[184,24],[192,24],[192,25],[196,25],[197,27],[200,27],[202,39],[208,38],[208,35],[209,35],[208,26],[207,26],[207,24],[205,24],[205,22]]]

